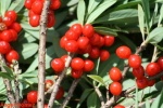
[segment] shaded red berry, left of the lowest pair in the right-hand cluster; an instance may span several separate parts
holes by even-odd
[[[136,83],[137,83],[138,89],[145,89],[148,85],[147,78],[136,79]]]

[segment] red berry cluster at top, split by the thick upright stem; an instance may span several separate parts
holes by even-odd
[[[26,0],[25,8],[28,9],[29,24],[33,27],[39,26],[40,14],[42,12],[45,0]],[[60,0],[51,0],[50,9],[48,11],[47,27],[50,28],[55,23],[53,10],[58,10],[61,6]]]

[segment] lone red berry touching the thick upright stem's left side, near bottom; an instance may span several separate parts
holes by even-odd
[[[36,103],[37,103],[37,91],[30,91],[30,92],[27,94],[27,100],[28,100],[30,104],[36,104]]]

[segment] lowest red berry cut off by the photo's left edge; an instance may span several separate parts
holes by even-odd
[[[11,51],[11,45],[9,42],[0,41],[0,53],[7,54]]]

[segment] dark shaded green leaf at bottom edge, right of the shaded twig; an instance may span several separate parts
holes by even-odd
[[[77,106],[76,106],[76,108],[79,108],[80,107],[80,105],[84,103],[84,100],[86,100],[86,98],[89,96],[89,94],[92,92],[92,90],[90,90],[90,89],[86,89],[84,92],[83,92],[83,94],[82,94],[82,96],[80,96],[80,98],[79,98],[79,103],[77,104]]]

